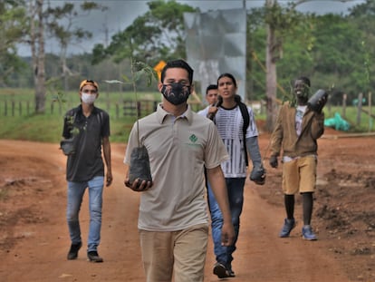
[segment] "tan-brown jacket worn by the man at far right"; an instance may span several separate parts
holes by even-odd
[[[306,155],[316,155],[318,151],[317,139],[324,132],[324,112],[313,112],[309,108],[303,115],[301,135],[295,131],[296,108],[285,103],[279,112],[274,131],[271,135],[271,155],[302,157]]]

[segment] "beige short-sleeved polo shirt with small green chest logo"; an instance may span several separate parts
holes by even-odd
[[[133,148],[145,145],[154,182],[141,193],[139,229],[175,231],[208,223],[204,166],[219,166],[228,154],[214,122],[187,112],[179,117],[157,112],[134,124],[124,162],[130,165]]]

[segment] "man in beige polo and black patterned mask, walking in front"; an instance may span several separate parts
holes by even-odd
[[[135,123],[124,163],[131,166],[134,148],[149,153],[152,181],[136,179],[125,185],[141,191],[139,238],[147,281],[199,282],[204,279],[208,215],[205,178],[222,210],[222,243],[235,235],[220,164],[228,159],[216,126],[192,112],[187,98],[193,90],[193,70],[183,60],[168,62],[161,72],[163,101],[156,112]]]

